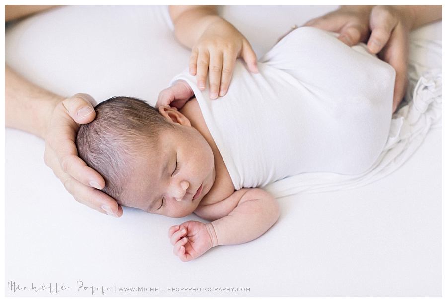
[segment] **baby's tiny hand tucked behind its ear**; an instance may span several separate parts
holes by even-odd
[[[165,88],[160,92],[155,108],[171,106],[180,110],[193,96],[194,92],[188,83],[184,80],[178,80],[171,87]]]

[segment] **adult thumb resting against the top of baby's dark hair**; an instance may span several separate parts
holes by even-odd
[[[95,99],[89,94],[79,93],[62,101],[70,117],[78,124],[88,124],[95,116]]]

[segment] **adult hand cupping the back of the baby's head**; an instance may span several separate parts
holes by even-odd
[[[95,118],[94,102],[90,95],[76,94],[55,107],[44,137],[44,160],[76,201],[120,217],[123,210],[118,203],[98,190],[105,186],[102,176],[77,154],[76,133],[79,124],[87,124]]]

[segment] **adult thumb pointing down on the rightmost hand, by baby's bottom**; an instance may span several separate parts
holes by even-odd
[[[391,32],[397,25],[397,18],[382,5],[375,6],[371,11],[371,36],[368,39],[368,51],[378,53],[388,42]]]

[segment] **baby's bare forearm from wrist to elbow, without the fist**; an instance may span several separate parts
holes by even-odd
[[[228,216],[209,223],[213,246],[240,244],[256,239],[264,234],[278,217],[278,202],[273,198],[245,201]]]

